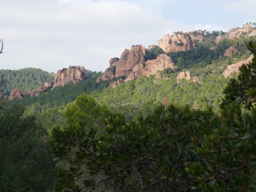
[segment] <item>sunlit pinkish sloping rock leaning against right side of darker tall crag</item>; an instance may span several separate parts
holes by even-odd
[[[151,74],[157,74],[158,71],[162,71],[164,69],[176,69],[176,66],[173,64],[173,61],[165,54],[158,55],[156,59],[148,60],[145,64],[138,64],[129,74],[124,82],[129,80],[135,80],[135,78],[141,76],[149,76]]]

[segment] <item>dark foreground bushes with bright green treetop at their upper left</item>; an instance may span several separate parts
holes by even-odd
[[[126,123],[124,116],[100,109],[89,96],[78,97],[67,118],[69,126],[53,128],[52,133],[53,154],[65,162],[56,191],[187,190],[192,181],[185,165],[195,159],[192,138],[199,140],[217,123],[211,110],[173,106],[159,106],[147,118]]]

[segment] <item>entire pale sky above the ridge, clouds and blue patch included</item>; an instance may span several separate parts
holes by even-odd
[[[124,49],[158,45],[174,31],[256,22],[255,7],[255,0],[0,0],[0,69],[104,72]]]

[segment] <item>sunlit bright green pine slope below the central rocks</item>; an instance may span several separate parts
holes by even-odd
[[[213,74],[212,71],[215,73]],[[213,107],[214,112],[217,112],[222,100],[223,88],[228,82],[219,66],[213,64],[203,69],[195,69],[191,74],[195,74],[202,82],[199,84],[184,80],[178,85],[176,80],[178,73],[166,73],[167,80],[156,81],[154,76],[140,77],[127,84],[122,83],[116,88],[94,91],[91,95],[99,104],[107,104],[110,110],[121,113],[127,118],[146,116],[162,104],[165,97],[169,104],[175,106],[189,105],[191,108],[201,110]]]

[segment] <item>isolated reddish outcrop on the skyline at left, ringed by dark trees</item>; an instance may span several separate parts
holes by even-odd
[[[68,69],[64,68],[56,73],[53,88],[64,86],[68,82],[73,82],[73,84],[75,84],[76,82],[83,80],[86,75],[87,71],[83,66],[69,66]]]

